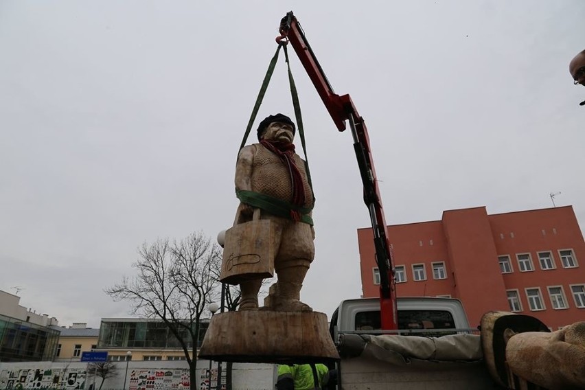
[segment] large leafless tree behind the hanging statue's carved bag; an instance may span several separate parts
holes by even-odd
[[[139,317],[161,319],[167,325],[183,349],[190,388],[196,390],[200,321],[206,318],[207,304],[218,298],[220,246],[199,232],[172,244],[168,239],[145,242],[138,253],[133,264],[137,275],[124,277],[106,293],[115,301],[130,301]]]

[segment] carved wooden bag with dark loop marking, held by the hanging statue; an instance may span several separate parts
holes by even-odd
[[[250,279],[273,277],[273,242],[271,220],[261,220],[260,209],[255,209],[253,220],[225,232],[220,281],[240,284]]]

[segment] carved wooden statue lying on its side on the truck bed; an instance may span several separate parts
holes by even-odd
[[[481,319],[483,358],[509,389],[585,389],[585,322],[550,332],[535,317],[488,312]]]

